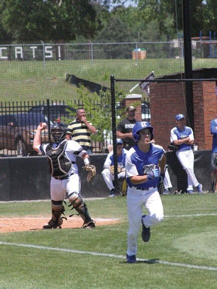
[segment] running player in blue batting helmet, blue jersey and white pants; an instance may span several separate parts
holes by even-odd
[[[139,121],[133,127],[136,145],[126,157],[126,174],[128,183],[127,207],[129,218],[127,262],[135,263],[137,254],[137,237],[142,220],[142,239],[148,242],[151,236],[150,226],[156,225],[164,218],[163,206],[157,190],[160,178],[164,178],[165,155],[161,146],[150,143],[153,127],[149,122]],[[142,216],[143,205],[148,210]]]

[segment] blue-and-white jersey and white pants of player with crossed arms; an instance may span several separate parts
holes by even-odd
[[[170,133],[170,142],[172,143],[174,140],[184,139],[188,136],[190,140],[194,139],[193,130],[190,127],[184,126],[183,130],[180,130],[178,127],[173,127]],[[197,187],[199,185],[199,182],[194,175],[194,155],[191,145],[182,143],[182,145],[179,146],[179,149],[176,152],[176,156],[183,169],[187,173],[187,191],[192,191],[193,186]]]

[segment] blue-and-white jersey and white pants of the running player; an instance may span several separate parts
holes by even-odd
[[[131,148],[127,154],[125,167],[127,173],[127,206],[129,218],[128,249],[129,256],[137,253],[137,238],[141,226],[143,206],[148,210],[148,215],[143,218],[146,227],[156,225],[164,218],[163,206],[157,190],[158,178],[148,180],[139,185],[133,185],[129,177],[143,176],[158,168],[164,150],[161,146],[150,143],[150,150],[144,153],[138,146]]]

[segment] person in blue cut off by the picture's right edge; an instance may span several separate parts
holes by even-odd
[[[209,193],[215,193],[215,182],[217,176],[217,118],[210,122],[210,133],[212,134],[212,154],[211,154],[211,185]]]

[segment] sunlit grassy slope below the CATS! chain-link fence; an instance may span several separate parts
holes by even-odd
[[[216,59],[194,59],[193,68],[217,67]],[[65,81],[66,74],[74,74],[110,87],[110,75],[116,78],[143,79],[151,71],[156,76],[184,71],[184,61],[179,59],[96,59],[47,61],[2,61],[0,65],[0,101],[36,101],[76,99],[75,87]],[[129,93],[135,84],[122,89]],[[134,91],[134,93],[141,93]]]

